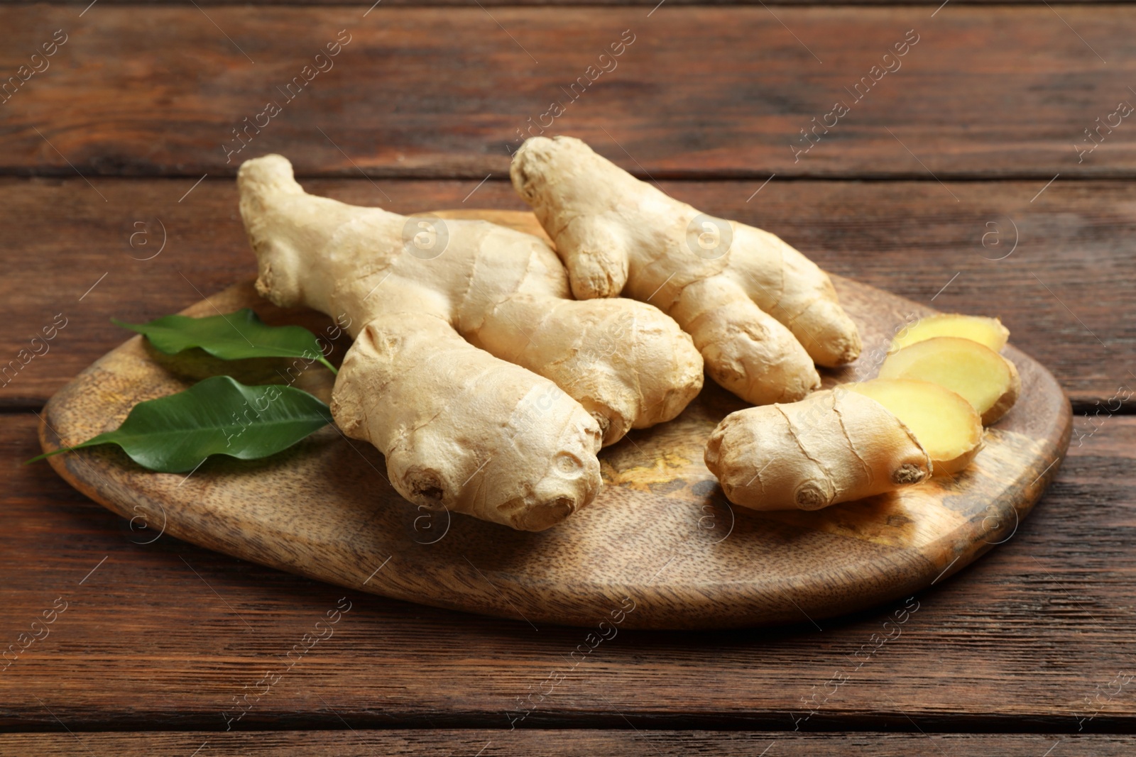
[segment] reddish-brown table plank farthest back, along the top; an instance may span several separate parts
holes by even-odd
[[[197,179],[277,151],[302,175],[479,180],[532,123],[657,178],[1136,175],[1124,115],[1075,146],[1136,102],[1125,6],[366,11],[6,6],[5,76],[56,30],[67,42],[15,83],[0,171]],[[350,43],[318,73],[340,30]],[[832,128],[799,155],[813,118]]]

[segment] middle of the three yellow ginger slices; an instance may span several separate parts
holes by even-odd
[[[879,378],[917,379],[962,396],[989,426],[1013,407],[1021,379],[1012,362],[989,347],[957,336],[936,336],[893,352]]]

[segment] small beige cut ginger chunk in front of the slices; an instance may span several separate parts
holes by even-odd
[[[819,510],[919,483],[932,461],[884,405],[842,387],[749,407],[718,424],[707,468],[752,510]]]

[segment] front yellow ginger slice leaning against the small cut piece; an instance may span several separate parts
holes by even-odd
[[[871,397],[903,421],[930,455],[935,473],[958,473],[982,449],[978,413],[950,389],[911,379],[872,379],[844,386]]]

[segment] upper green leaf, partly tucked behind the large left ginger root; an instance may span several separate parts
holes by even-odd
[[[124,323],[111,318],[115,326],[144,334],[150,344],[167,355],[201,347],[222,360],[244,358],[303,358],[318,360],[337,372],[327,362],[316,335],[302,326],[266,326],[254,312],[243,308],[235,313],[190,318],[166,316],[149,323]]]

